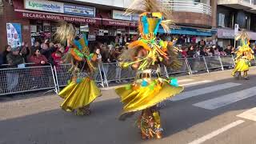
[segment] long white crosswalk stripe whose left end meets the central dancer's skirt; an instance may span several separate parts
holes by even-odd
[[[182,99],[191,98],[191,97],[195,97],[195,96],[202,95],[202,94],[209,94],[214,91],[224,90],[224,89],[228,89],[230,87],[240,86],[240,85],[241,85],[240,83],[227,82],[227,83],[220,84],[220,85],[204,87],[202,89],[185,91],[181,94],[176,95],[173,98],[170,98],[170,101],[180,101]]]

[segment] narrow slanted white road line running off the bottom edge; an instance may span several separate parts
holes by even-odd
[[[193,142],[190,142],[188,144],[200,144],[202,142],[206,142],[207,140],[209,140],[210,138],[214,138],[215,136],[217,136],[218,134],[222,134],[223,132],[225,132],[226,130],[230,130],[231,128],[238,126],[240,124],[242,124],[242,120],[238,120],[236,122],[232,122],[229,125],[226,125],[218,130],[215,130],[213,132],[211,132],[210,134],[206,134],[205,136],[203,136],[202,138],[198,138],[196,140],[194,140]]]

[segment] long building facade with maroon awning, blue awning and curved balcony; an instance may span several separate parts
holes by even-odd
[[[170,34],[186,39],[186,42],[205,39],[214,43],[216,1],[161,1],[163,8],[174,11],[175,25],[171,26]],[[132,38],[138,34],[138,14],[123,14],[132,2],[133,0],[2,0],[1,49],[7,43],[19,46],[22,42],[33,45],[45,38],[54,40],[60,20],[73,22],[77,33],[86,32],[90,41],[108,44],[115,41],[117,36]],[[163,30],[158,32],[161,34]]]

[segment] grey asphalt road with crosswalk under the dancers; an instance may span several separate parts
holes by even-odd
[[[125,122],[113,89],[102,90],[90,116],[59,108],[58,95],[0,98],[0,144],[256,144],[256,68],[250,80],[230,70],[179,77],[185,91],[163,103],[162,139],[142,141],[137,115]]]

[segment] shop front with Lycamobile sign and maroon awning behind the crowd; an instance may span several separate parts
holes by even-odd
[[[48,1],[46,6],[43,1],[14,0],[14,11],[18,18],[26,19],[30,23],[31,43],[43,39],[54,40],[54,33],[60,21],[72,22],[77,34],[86,32],[90,41],[98,38],[115,37],[117,35],[136,34],[138,22],[126,21],[118,17],[102,17],[96,14],[92,6],[75,5],[66,2]],[[115,13],[113,13],[115,14]],[[103,37],[103,38],[101,38]],[[112,38],[112,39],[113,39]]]

